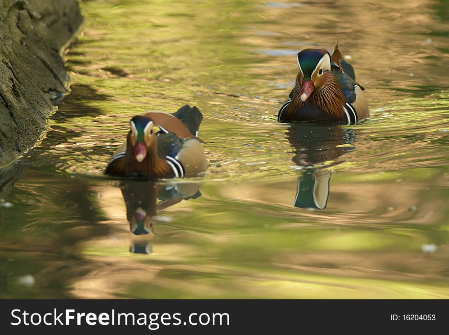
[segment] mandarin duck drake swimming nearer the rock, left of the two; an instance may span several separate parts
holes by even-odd
[[[178,112],[147,112],[130,121],[126,143],[114,152],[105,174],[150,178],[195,177],[206,171],[197,137],[203,114],[185,105]],[[158,126],[159,131],[154,131]]]

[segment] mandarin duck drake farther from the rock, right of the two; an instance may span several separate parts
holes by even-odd
[[[304,49],[297,61],[300,71],[278,122],[356,124],[368,117],[365,89],[356,82],[353,67],[342,60],[338,43],[332,55],[325,49]]]

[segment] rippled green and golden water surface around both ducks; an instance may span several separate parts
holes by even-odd
[[[449,3],[407,4],[82,2],[72,92],[0,173],[0,295],[449,298]],[[369,120],[277,123],[297,51],[337,39]],[[132,116],[185,104],[204,178],[103,175]]]

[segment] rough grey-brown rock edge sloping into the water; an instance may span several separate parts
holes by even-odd
[[[0,0],[0,167],[39,141],[69,92],[62,52],[82,21],[77,0]]]

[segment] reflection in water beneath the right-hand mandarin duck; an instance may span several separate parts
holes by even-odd
[[[290,123],[287,139],[294,149],[293,162],[304,168],[298,179],[294,206],[322,210],[330,190],[330,167],[344,153],[355,150],[353,129],[336,125]],[[319,166],[333,161],[326,167]]]

